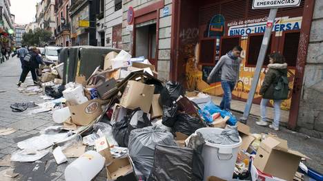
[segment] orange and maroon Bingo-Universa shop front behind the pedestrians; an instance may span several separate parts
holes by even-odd
[[[280,52],[288,63],[291,91],[288,99],[282,103],[282,109],[286,110],[291,109],[293,95],[300,91],[295,89],[295,84],[300,85],[302,80],[302,74],[297,72],[304,70],[304,64],[300,63],[304,61],[300,60],[300,49],[304,49],[304,45],[307,46],[301,34],[309,30],[309,26],[304,23],[311,20],[304,16],[304,6],[308,1],[302,0],[299,7],[278,10],[266,53]],[[233,99],[246,101],[269,14],[269,10],[266,9],[253,10],[252,3],[252,0],[174,1],[171,78],[185,83],[188,89],[222,96],[220,83],[209,85],[206,78],[222,55],[235,45],[240,45],[244,50]],[[264,81],[268,61],[266,56],[253,103],[260,103],[259,90]]]

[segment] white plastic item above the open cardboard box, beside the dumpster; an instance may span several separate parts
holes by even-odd
[[[86,103],[86,101],[88,101],[88,98],[84,96],[83,86],[77,86],[74,89],[69,87],[63,91],[63,96],[66,100],[77,104]]]

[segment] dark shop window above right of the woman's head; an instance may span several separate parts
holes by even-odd
[[[300,32],[284,33],[283,55],[288,66],[295,67],[297,61],[298,42],[300,41]]]

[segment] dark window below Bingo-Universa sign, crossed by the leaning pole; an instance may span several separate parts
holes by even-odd
[[[264,34],[249,34],[248,35],[248,46],[246,51],[246,65],[255,66],[257,65],[257,60],[260,52],[260,47],[262,47],[262,39]],[[271,40],[273,35],[271,36]],[[268,55],[271,53],[271,40],[268,43],[268,49],[264,59],[263,65],[268,65],[269,58]]]

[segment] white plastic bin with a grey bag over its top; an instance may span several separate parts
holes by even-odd
[[[197,129],[195,134],[221,134],[223,130],[216,127],[204,127]],[[204,158],[204,180],[212,175],[222,179],[232,179],[240,145],[242,145],[240,137],[239,142],[233,145],[219,145],[206,141],[202,151]]]

